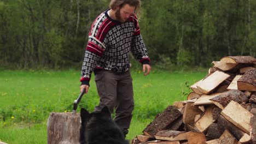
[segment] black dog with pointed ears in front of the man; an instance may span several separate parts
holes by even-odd
[[[124,134],[117,124],[112,120],[107,106],[101,111],[89,113],[81,109],[81,144],[128,144]]]

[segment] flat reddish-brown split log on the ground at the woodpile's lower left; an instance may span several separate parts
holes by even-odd
[[[155,134],[155,139],[168,141],[187,140],[186,133],[186,131],[161,130]]]

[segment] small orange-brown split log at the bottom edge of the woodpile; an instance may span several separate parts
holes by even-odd
[[[195,131],[189,131],[187,133],[187,139],[189,144],[198,144],[198,143],[205,143],[206,136],[203,133],[198,133]]]

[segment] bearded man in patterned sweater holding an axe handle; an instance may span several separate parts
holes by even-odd
[[[150,59],[139,31],[138,14],[140,0],[112,0],[109,9],[103,11],[92,23],[86,47],[80,91],[89,90],[91,73],[95,82],[100,104],[95,111],[105,105],[113,113],[124,135],[130,127],[134,108],[132,77],[129,53],[142,63],[144,75],[150,73]]]

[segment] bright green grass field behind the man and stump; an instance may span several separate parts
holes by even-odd
[[[152,71],[144,76],[132,71],[135,110],[127,139],[142,130],[173,101],[187,98],[188,86],[205,72]],[[47,143],[46,122],[50,112],[72,111],[79,95],[80,71],[0,71],[0,141],[7,143]],[[188,82],[188,83],[187,83]],[[78,109],[90,112],[98,104],[94,76]],[[79,111],[78,111],[79,112]]]

